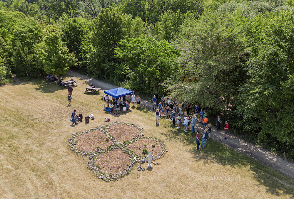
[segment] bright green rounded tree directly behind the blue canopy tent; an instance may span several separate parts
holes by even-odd
[[[154,90],[162,90],[161,83],[177,70],[172,60],[178,52],[167,41],[139,36],[119,43],[120,47],[115,52],[123,64],[118,67],[117,75],[126,75],[130,86],[142,94],[150,95]]]

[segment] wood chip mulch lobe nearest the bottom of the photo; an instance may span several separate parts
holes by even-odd
[[[100,167],[98,170],[106,175],[109,175],[110,173],[118,174],[123,172],[124,168],[128,167],[130,160],[127,154],[116,149],[98,157],[95,164]]]

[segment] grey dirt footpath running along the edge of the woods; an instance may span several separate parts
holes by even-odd
[[[67,72],[67,74],[70,75],[71,77],[77,77],[81,80],[84,80],[85,82],[88,82],[89,84],[93,83],[94,85],[101,88],[102,90],[109,90],[109,89],[116,88],[116,86],[96,80],[86,75],[81,75],[78,72],[69,71]],[[146,101],[144,99],[141,99],[141,101],[144,107],[148,109],[152,109],[151,102]],[[203,129],[202,125],[200,126],[197,122],[196,124],[198,129]],[[241,139],[235,138],[234,136],[230,136],[230,134],[228,135],[228,139],[224,140],[223,135],[224,135],[224,131],[216,131],[215,128],[212,129],[212,135],[211,135],[212,139],[222,144],[225,144],[245,155],[255,158],[258,161],[280,171],[281,173],[284,173],[286,176],[294,178],[294,163],[289,162],[283,158],[280,158],[279,156],[272,154],[265,149],[261,149],[253,144],[250,144]]]

